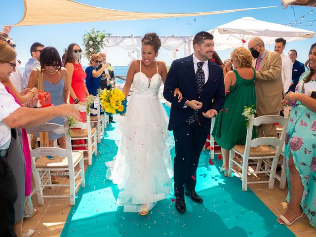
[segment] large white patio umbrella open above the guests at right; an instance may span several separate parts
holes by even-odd
[[[243,17],[218,26],[208,31],[214,36],[215,50],[225,50],[247,45],[248,41],[258,36],[265,44],[274,44],[282,37],[288,42],[313,38],[315,32],[294,28],[253,17]],[[246,46],[245,45],[245,46]]]

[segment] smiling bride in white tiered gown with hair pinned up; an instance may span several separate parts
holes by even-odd
[[[126,116],[118,119],[121,137],[108,177],[118,185],[118,206],[146,215],[158,200],[168,197],[173,171],[166,146],[168,116],[158,97],[167,76],[164,62],[155,60],[161,42],[156,33],[146,34],[141,42],[142,59],[132,61],[123,87],[126,97],[131,84],[133,92]],[[178,89],[176,95],[182,100]]]

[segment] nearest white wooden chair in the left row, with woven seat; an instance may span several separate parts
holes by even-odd
[[[75,205],[76,189],[81,184],[84,188],[84,164],[83,152],[72,152],[70,137],[67,134],[68,121],[64,126],[54,123],[44,123],[38,127],[28,129],[28,132],[55,132],[57,134],[65,133],[66,149],[58,147],[40,147],[31,150],[31,167],[34,176],[39,205],[44,204],[44,197],[70,197],[70,205]],[[75,172],[75,167],[79,164],[79,169]],[[58,176],[68,176],[69,184],[52,184],[51,171],[60,171],[53,173]],[[76,185],[76,178],[80,178]],[[46,179],[45,179],[46,176]],[[69,187],[70,195],[43,195],[45,187]]]

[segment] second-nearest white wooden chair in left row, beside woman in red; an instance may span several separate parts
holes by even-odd
[[[83,105],[72,104],[76,110],[80,112],[86,112],[86,107]],[[90,116],[85,114],[85,122],[78,121],[74,126],[71,128],[71,140],[81,140],[85,139],[87,142],[83,144],[82,150],[84,152],[88,152],[88,165],[92,165],[92,153],[97,156],[97,132],[96,128],[91,128],[91,121]],[[80,128],[80,129],[73,129],[73,128]],[[74,146],[74,145],[73,145]],[[77,145],[78,146],[78,145]],[[77,150],[76,150],[77,151]],[[86,158],[85,158],[86,159]]]

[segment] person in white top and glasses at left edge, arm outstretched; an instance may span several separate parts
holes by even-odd
[[[77,119],[80,116],[71,105],[24,108],[35,106],[36,97],[22,107],[15,102],[1,83],[16,67],[16,52],[5,41],[5,36],[0,36],[0,236],[22,237],[25,168],[18,136],[20,129],[16,128],[39,125],[57,116]]]

